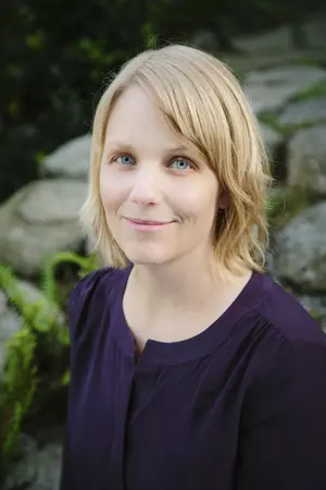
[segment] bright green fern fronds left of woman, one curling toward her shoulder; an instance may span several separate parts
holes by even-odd
[[[7,345],[7,364],[0,378],[0,461],[7,465],[18,455],[18,436],[28,411],[40,409],[40,387],[58,390],[68,383],[70,372],[64,362],[68,347],[68,329],[61,307],[64,304],[55,280],[55,269],[62,264],[74,264],[79,277],[97,268],[93,256],[59,253],[43,267],[42,298],[33,302],[26,297],[13,271],[0,265],[0,289],[22,318],[22,328]],[[45,372],[43,359],[50,364]]]

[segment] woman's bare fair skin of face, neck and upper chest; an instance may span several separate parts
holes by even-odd
[[[225,199],[216,176],[137,86],[111,113],[100,193],[113,237],[135,266],[124,310],[139,350],[148,338],[172,342],[199,333],[249,280],[220,278],[212,230]],[[168,331],[170,320],[179,328]]]

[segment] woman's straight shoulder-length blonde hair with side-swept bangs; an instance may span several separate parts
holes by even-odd
[[[243,268],[262,271],[268,242],[266,191],[272,177],[256,119],[239,82],[223,62],[180,45],[148,50],[128,61],[100,99],[89,192],[80,213],[93,237],[93,252],[114,268],[128,265],[105,220],[99,175],[108,120],[117,98],[135,84],[152,96],[171,128],[203,155],[228,196],[224,216],[216,217],[218,266],[234,273]]]

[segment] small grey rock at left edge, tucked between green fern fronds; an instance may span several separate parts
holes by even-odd
[[[7,342],[21,329],[22,320],[17,314],[8,306],[3,291],[0,291],[0,379],[7,359]]]

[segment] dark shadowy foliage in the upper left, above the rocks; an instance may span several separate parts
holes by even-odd
[[[60,144],[89,131],[105,74],[146,47],[145,21],[145,0],[32,0],[1,12],[0,199],[36,179],[39,160]]]

